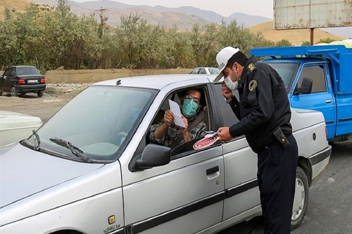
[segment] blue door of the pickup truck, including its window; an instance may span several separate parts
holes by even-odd
[[[328,139],[335,135],[335,99],[332,93],[327,63],[304,65],[294,87],[300,87],[303,78],[313,80],[312,92],[309,94],[292,94],[291,106],[301,109],[311,109],[323,113]]]

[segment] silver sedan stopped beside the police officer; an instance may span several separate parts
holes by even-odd
[[[96,83],[35,137],[0,148],[0,233],[205,234],[260,215],[257,155],[244,136],[200,150],[193,148],[199,139],[172,150],[150,141],[150,126],[163,118],[169,99],[179,103],[189,88],[202,93],[207,130],[238,122],[221,82],[208,77]],[[293,109],[291,123],[299,153],[295,228],[331,146],[322,113]]]

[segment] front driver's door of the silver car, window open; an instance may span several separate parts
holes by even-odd
[[[196,233],[221,222],[224,161],[220,143],[200,151],[193,150],[191,143],[188,150],[173,153],[167,165],[131,170],[134,157],[150,143],[151,120],[167,96],[170,93],[159,93],[140,125],[143,138],[139,138],[132,160],[120,159],[125,168],[122,180],[127,233]]]

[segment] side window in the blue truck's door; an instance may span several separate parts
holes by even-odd
[[[301,87],[303,78],[313,80],[312,93],[326,92],[325,73],[323,65],[304,66],[298,79],[298,87]]]

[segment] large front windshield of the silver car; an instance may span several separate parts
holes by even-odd
[[[60,143],[64,140],[95,162],[116,160],[156,93],[142,88],[88,87],[38,129],[40,147],[77,158],[66,143]],[[32,136],[26,142],[36,145]]]

